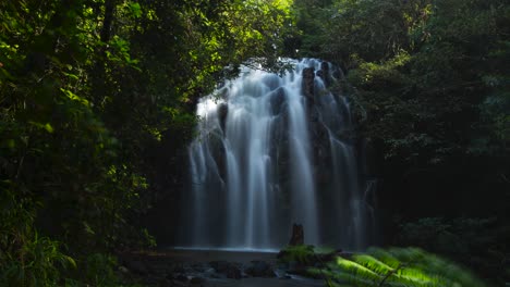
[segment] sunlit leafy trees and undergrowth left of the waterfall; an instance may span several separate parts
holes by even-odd
[[[1,1],[2,280],[117,286],[108,253],[155,245],[141,217],[179,187],[194,102],[250,58],[278,65],[289,5]]]

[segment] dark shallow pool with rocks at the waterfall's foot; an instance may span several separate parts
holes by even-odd
[[[119,272],[147,286],[291,287],[324,286],[307,278],[292,264],[277,261],[277,252],[168,249],[119,255]]]

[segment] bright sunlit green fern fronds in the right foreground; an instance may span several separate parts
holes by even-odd
[[[314,272],[327,274],[329,286],[485,286],[465,269],[417,248],[371,249]]]

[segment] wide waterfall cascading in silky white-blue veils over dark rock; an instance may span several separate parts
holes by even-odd
[[[367,244],[373,214],[349,102],[327,89],[339,73],[313,59],[291,63],[283,76],[244,67],[201,99],[179,246],[281,248],[293,223],[306,244]]]

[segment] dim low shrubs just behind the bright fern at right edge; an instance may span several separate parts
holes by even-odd
[[[448,255],[497,284],[505,283],[510,229],[497,219],[426,217],[401,224],[397,244]]]

